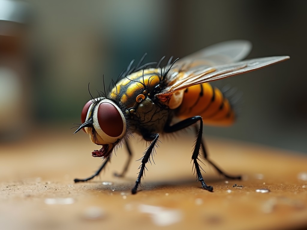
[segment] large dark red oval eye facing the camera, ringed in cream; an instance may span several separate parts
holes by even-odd
[[[122,134],[124,123],[118,109],[108,102],[99,105],[97,119],[101,130],[111,137]]]

